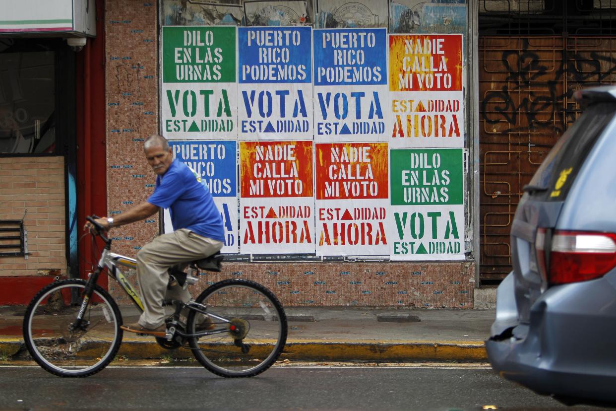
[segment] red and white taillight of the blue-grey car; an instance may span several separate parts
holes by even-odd
[[[552,284],[595,279],[616,267],[616,234],[559,230],[552,236],[546,267],[545,232],[537,230],[537,264]]]

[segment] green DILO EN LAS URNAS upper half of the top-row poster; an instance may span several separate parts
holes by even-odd
[[[163,27],[163,83],[235,83],[235,26]]]

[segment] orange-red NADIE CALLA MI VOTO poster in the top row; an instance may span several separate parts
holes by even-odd
[[[462,35],[389,35],[389,146],[464,146]]]

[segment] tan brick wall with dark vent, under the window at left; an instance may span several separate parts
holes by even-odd
[[[63,157],[0,158],[0,219],[22,218],[30,254],[0,257],[0,277],[66,275]]]

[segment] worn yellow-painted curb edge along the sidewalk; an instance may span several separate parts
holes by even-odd
[[[28,355],[20,338],[0,340],[0,359],[23,359]],[[168,350],[154,341],[122,341],[118,357],[124,359],[192,358],[188,349]],[[29,355],[28,355],[29,357]],[[317,341],[289,340],[280,359],[294,361],[458,361],[487,362],[483,341]]]

